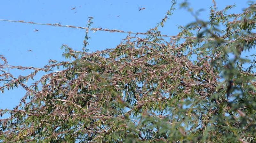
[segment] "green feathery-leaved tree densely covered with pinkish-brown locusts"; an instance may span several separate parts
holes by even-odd
[[[217,11],[209,21],[180,26],[170,41],[158,31],[165,17],[143,38],[128,34],[114,49],[88,53],[67,45],[68,61],[15,78],[4,71],[1,91],[19,85],[26,95],[0,119],[7,142],[244,142],[255,137],[256,4],[239,14]],[[88,21],[88,27],[92,18]],[[84,48],[88,44],[88,31]],[[255,52],[253,52],[255,53]],[[55,71],[63,67],[62,70]],[[27,86],[37,72],[49,72]],[[42,86],[41,88],[39,88]]]

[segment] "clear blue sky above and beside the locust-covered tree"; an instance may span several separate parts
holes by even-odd
[[[182,1],[178,1],[178,4]],[[209,19],[209,7],[212,0],[188,0],[194,10],[204,9],[199,18]],[[226,5],[236,4],[230,12],[239,13],[248,3],[241,0],[216,0],[217,8],[223,9]],[[92,16],[91,27],[119,29],[132,32],[146,32],[164,17],[171,6],[171,0],[3,0],[0,5],[0,19],[24,20],[38,23],[61,23],[61,25],[84,26],[89,16]],[[162,34],[176,35],[178,25],[185,26],[195,20],[184,9],[176,11],[161,29]],[[76,7],[74,10],[71,8]],[[138,7],[145,7],[139,11]],[[120,15],[120,16],[119,16]],[[117,17],[119,16],[119,17]],[[34,32],[34,29],[38,29]],[[65,60],[60,49],[67,44],[75,50],[83,46],[84,30],[46,25],[32,25],[0,21],[0,54],[4,55],[8,63],[13,66],[43,67],[49,59]],[[127,34],[89,31],[90,51],[114,48]],[[28,52],[32,50],[32,52]],[[31,71],[10,70],[14,76],[27,75]],[[44,73],[38,74],[38,78]],[[0,109],[12,109],[25,90],[17,88],[0,93]],[[4,117],[0,117],[4,118]]]

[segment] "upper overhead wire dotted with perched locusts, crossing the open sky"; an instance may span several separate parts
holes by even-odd
[[[77,28],[77,29],[88,29],[93,32],[96,31],[107,31],[107,32],[120,32],[120,33],[128,33],[128,34],[140,34],[140,35],[148,35],[148,33],[143,32],[131,32],[131,31],[123,31],[123,30],[117,30],[117,29],[102,29],[102,28],[88,28],[88,27],[80,27],[80,26],[72,26],[72,25],[60,25],[60,23],[56,24],[50,24],[50,23],[36,23],[31,21],[23,21],[23,20],[7,20],[7,19],[0,19],[1,21],[8,21],[8,22],[20,22],[20,23],[28,23],[28,24],[37,24],[37,25],[48,25],[48,26],[58,26],[58,27],[68,27],[68,28]],[[185,36],[169,36],[169,35],[163,35],[162,37],[170,37],[170,38],[183,38],[183,39],[198,39],[197,37],[191,36],[191,37],[185,37]],[[201,38],[200,38],[201,39]],[[204,40],[212,40],[212,39],[204,39]]]

